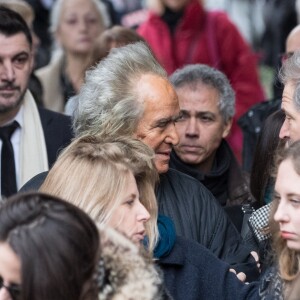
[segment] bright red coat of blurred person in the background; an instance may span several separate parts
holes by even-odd
[[[236,92],[236,113],[228,141],[241,160],[242,131],[236,121],[264,100],[257,61],[235,25],[222,12],[204,11],[198,0],[187,5],[173,36],[153,12],[138,28],[158,61],[171,74],[186,64],[202,63],[224,72]]]

